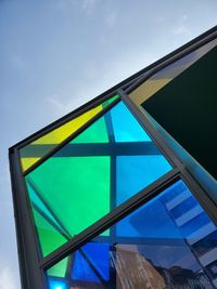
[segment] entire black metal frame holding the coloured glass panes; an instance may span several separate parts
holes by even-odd
[[[166,67],[178,58],[189,54],[195,49],[204,45],[205,43],[212,41],[217,37],[217,27],[212,28],[207,32],[176,50],[175,52],[168,54],[162,60],[155,62],[154,64],[142,69],[132,77],[126,79],[119,84],[115,86],[105,93],[99,95],[91,102],[82,105],[80,108],[74,110],[67,116],[61,118],[60,120],[51,123],[39,132],[33,134],[31,136],[25,139],[24,141],[17,143],[10,148],[10,169],[11,169],[11,180],[12,180],[12,191],[13,191],[13,203],[14,203],[14,214],[16,222],[16,236],[18,244],[18,258],[20,258],[20,270],[22,275],[22,286],[24,289],[46,289],[46,278],[44,270],[48,270],[53,264],[59,262],[62,258],[66,257],[68,253],[78,249],[85,242],[91,238],[99,235],[101,232],[116,223],[118,220],[123,219],[129,212],[133,211],[136,208],[140,207],[142,203],[149,201],[151,198],[159,194],[164,188],[171,185],[177,180],[181,179],[189,186],[192,194],[201,202],[202,207],[209,214],[212,220],[217,223],[217,210],[216,205],[213,199],[204,193],[203,187],[199,185],[196,180],[189,173],[183,163],[179,160],[176,154],[170,147],[167,146],[162,135],[155,130],[154,126],[150,120],[136,107],[136,105],[130,101],[126,93],[129,93],[143,81],[150,78],[153,74],[159,69]],[[84,114],[85,111],[95,107],[105,100],[118,94],[120,100],[128,106],[130,111],[135,115],[140,124],[145,129],[145,131],[151,135],[152,140],[159,148],[159,150],[167,157],[167,159],[173,163],[174,169],[159,178],[157,181],[142,189],[136,196],[128,199],[126,202],[115,208],[111,213],[103,216],[101,220],[95,222],[93,225],[75,236],[73,239],[68,240],[65,245],[47,255],[46,258],[40,258],[40,248],[38,245],[36,229],[34,226],[34,220],[31,215],[30,205],[28,200],[28,195],[26,191],[26,185],[24,183],[24,176],[33,171],[40,163],[46,161],[54,153],[56,153],[61,147],[63,147],[72,139],[76,137],[81,133],[87,127],[89,127],[93,121],[103,116],[107,110],[110,110],[119,98],[114,103],[104,108],[101,113],[94,116],[90,121],[88,121],[78,131],[68,136],[63,143],[58,145],[51,153],[46,155],[36,165],[30,167],[26,172],[22,172],[21,160],[18,150],[26,146],[27,144],[34,142],[36,139],[41,137],[48,132],[54,130],[55,128],[66,123],[67,121],[76,118],[77,116]]]

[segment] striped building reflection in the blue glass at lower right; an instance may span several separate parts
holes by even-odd
[[[212,266],[212,264],[216,264],[216,226],[186,186],[180,186],[179,194],[170,196],[163,202],[216,287],[217,274],[213,274],[215,266]]]

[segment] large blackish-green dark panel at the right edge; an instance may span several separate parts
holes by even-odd
[[[217,47],[142,104],[145,111],[215,179],[216,63]],[[197,178],[203,178],[199,173],[195,173]]]

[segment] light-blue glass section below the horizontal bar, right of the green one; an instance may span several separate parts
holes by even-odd
[[[168,172],[171,167],[163,156],[117,157],[117,205]]]

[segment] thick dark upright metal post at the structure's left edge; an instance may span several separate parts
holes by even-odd
[[[10,150],[10,170],[23,287],[46,289],[43,274],[38,266],[40,248],[37,242],[30,208],[25,194],[17,149]]]

